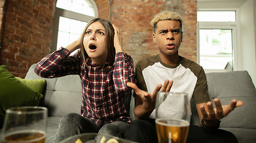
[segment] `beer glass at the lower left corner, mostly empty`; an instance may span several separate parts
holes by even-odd
[[[8,108],[5,114],[1,142],[44,143],[47,116],[46,107]]]

